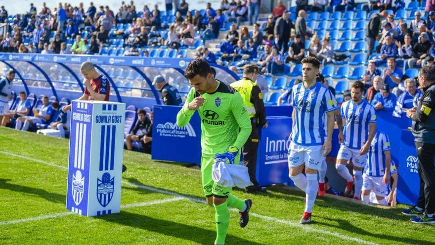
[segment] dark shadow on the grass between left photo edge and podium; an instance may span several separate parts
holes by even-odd
[[[0,189],[10,190],[12,192],[20,192],[25,196],[37,196],[46,199],[47,201],[56,203],[65,203],[66,196],[47,192],[43,189],[33,188],[28,186],[21,186],[17,184],[8,183],[11,179],[1,179],[0,178]]]

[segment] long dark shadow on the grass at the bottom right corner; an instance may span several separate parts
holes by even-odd
[[[371,233],[369,231],[363,230],[360,227],[356,227],[354,225],[352,225],[348,220],[342,220],[342,219],[334,219],[334,218],[327,218],[327,217],[323,217],[326,220],[331,220],[331,221],[335,221],[338,224],[333,225],[333,224],[327,224],[327,223],[322,223],[322,222],[318,222],[316,221],[317,224],[322,224],[324,226],[328,226],[328,227],[335,227],[337,229],[340,230],[345,230],[351,233],[356,233],[362,236],[370,236],[370,237],[375,237],[375,238],[379,238],[379,239],[386,239],[386,240],[390,240],[390,241],[395,241],[398,243],[405,243],[405,244],[433,244],[435,245],[435,242],[430,242],[430,241],[425,241],[425,240],[419,240],[419,239],[412,239],[412,238],[404,238],[404,237],[399,237],[400,234],[397,234],[398,236],[390,236],[390,235],[386,235],[386,234],[375,234],[375,233]],[[393,223],[392,223],[393,224]],[[431,225],[428,225],[427,228],[430,229]],[[429,230],[428,230],[429,231]]]

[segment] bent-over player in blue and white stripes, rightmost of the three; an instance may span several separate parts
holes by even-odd
[[[370,200],[370,191],[374,191],[379,204],[388,205],[384,198],[391,178],[391,147],[386,134],[377,131],[367,154],[367,165],[364,169],[362,198]]]

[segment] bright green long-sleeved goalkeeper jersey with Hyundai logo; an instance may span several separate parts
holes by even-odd
[[[195,111],[189,110],[187,105],[200,96],[205,99],[198,108],[202,154],[214,156],[226,152],[230,146],[240,150],[251,134],[251,121],[239,92],[222,82],[219,82],[214,93],[200,95],[195,89],[190,90],[184,106],[177,114],[178,127],[189,122]]]

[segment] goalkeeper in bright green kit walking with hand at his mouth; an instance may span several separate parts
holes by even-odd
[[[229,225],[228,207],[240,212],[240,227],[249,221],[250,199],[233,196],[231,187],[222,187],[212,179],[215,158],[239,164],[239,150],[251,134],[251,121],[240,94],[232,87],[214,79],[211,67],[203,59],[194,59],[186,67],[184,76],[192,89],[177,114],[177,125],[187,125],[195,110],[201,119],[201,174],[207,202],[216,209],[215,245],[223,245]],[[240,131],[239,131],[240,129]]]

